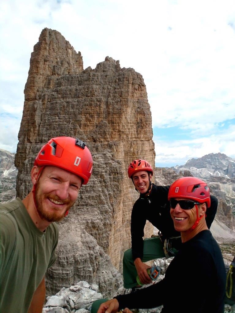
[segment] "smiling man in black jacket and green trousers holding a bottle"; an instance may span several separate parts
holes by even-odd
[[[138,275],[142,284],[150,284],[152,280],[147,274],[149,266],[144,262],[152,259],[175,256],[181,246],[179,231],[175,230],[170,216],[168,191],[170,186],[156,186],[151,182],[153,170],[145,160],[134,160],[128,167],[131,178],[140,197],[131,213],[131,249],[124,253],[123,280],[126,289],[137,286]],[[195,184],[198,178],[188,177]],[[206,224],[210,228],[214,220],[218,201],[211,196],[211,206],[206,212]],[[187,204],[190,205],[190,204]],[[160,236],[143,240],[146,221],[158,228]]]

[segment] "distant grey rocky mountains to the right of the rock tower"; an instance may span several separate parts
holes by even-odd
[[[171,185],[183,176],[198,177],[208,183],[211,194],[218,199],[217,220],[234,229],[235,159],[222,153],[210,153],[181,166],[155,168],[155,183],[159,185]]]

